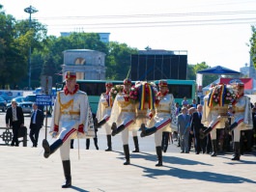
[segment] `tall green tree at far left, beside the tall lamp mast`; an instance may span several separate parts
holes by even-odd
[[[28,20],[15,20],[14,16],[5,14],[0,8],[0,84],[2,88],[28,85],[29,47],[40,48],[41,42],[46,37],[46,29],[42,24],[33,21],[30,28],[28,23]]]

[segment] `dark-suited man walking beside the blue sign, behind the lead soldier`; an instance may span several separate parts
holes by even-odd
[[[30,121],[30,133],[29,137],[33,143],[33,147],[38,147],[39,132],[43,126],[43,111],[38,108],[37,103],[33,103],[33,113]]]

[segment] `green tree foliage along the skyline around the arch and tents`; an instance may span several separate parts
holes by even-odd
[[[31,47],[31,85],[40,86],[41,75],[50,75],[53,85],[61,81],[59,75],[63,65],[63,51],[68,49],[91,49],[106,54],[106,79],[122,80],[128,77],[130,55],[137,54],[136,48],[127,43],[100,41],[96,33],[71,33],[68,37],[47,36],[46,27],[32,20],[15,20],[5,14],[0,5],[0,86],[2,88],[26,87],[28,85],[28,57]],[[256,67],[256,27],[252,26],[250,54]],[[148,49],[151,49],[149,46]],[[205,62],[187,66],[187,79],[195,80],[196,72],[208,69]],[[203,75],[203,86],[218,78],[217,75]]]

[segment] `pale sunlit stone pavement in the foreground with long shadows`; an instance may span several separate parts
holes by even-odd
[[[255,191],[256,157],[231,154],[166,152],[163,167],[156,167],[155,152],[130,153],[131,165],[124,166],[122,151],[71,150],[72,187],[64,181],[59,151],[43,158],[42,148],[0,147],[0,191]]]

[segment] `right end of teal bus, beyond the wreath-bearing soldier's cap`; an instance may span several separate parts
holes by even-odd
[[[188,103],[192,103],[192,99],[197,99],[196,96],[196,82],[194,80],[178,80],[178,79],[164,79],[167,81],[169,93],[175,98],[175,102],[182,105],[184,97]],[[158,85],[158,80],[154,81]]]

